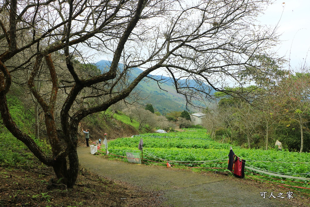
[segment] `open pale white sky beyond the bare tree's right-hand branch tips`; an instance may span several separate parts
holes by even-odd
[[[309,51],[309,17],[309,0],[276,0],[274,4],[268,7],[265,14],[259,17],[263,25],[275,26],[280,20],[277,32],[281,34],[282,43],[274,49],[279,56],[285,56],[287,60],[290,57],[292,68],[303,64]],[[310,52],[306,60],[310,62]]]

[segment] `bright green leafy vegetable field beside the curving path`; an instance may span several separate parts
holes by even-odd
[[[310,153],[289,152],[286,150],[245,149],[228,143],[218,143],[210,139],[203,129],[188,129],[182,133],[142,134],[129,138],[119,138],[109,142],[109,157],[127,161],[126,152],[138,152],[140,139],[143,139],[144,164],[166,165],[191,168],[195,171],[221,171],[231,174],[227,169],[230,146],[234,153],[246,160],[246,167],[277,173],[272,176],[245,169],[245,178],[257,182],[268,182],[290,190],[310,195]],[[309,178],[283,178],[281,175]],[[240,178],[236,178],[240,179]]]

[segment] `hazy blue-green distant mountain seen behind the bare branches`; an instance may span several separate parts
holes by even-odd
[[[101,60],[96,63],[98,68],[101,71],[108,70],[111,62]],[[120,67],[122,68],[122,64]],[[133,68],[131,70],[131,77],[136,78],[143,70],[139,68]],[[152,79],[143,79],[136,89],[141,91],[141,95],[148,97],[147,100],[144,100],[144,103],[152,103],[153,107],[157,109],[161,114],[166,114],[170,111],[182,111],[186,110],[186,100],[182,94],[176,92],[174,84],[171,82],[170,77],[166,76],[153,76],[155,79],[166,79],[165,83],[161,84],[161,88],[168,91],[161,90],[157,82]],[[201,105],[200,102],[196,101],[197,105]]]

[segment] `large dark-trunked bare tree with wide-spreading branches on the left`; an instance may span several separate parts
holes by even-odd
[[[255,25],[268,1],[0,2],[3,123],[40,161],[53,166],[68,187],[77,178],[78,123],[84,117],[125,99],[157,69],[170,74],[189,103],[211,97],[212,90],[225,91],[228,83],[247,83],[270,72],[261,70],[264,65],[255,58],[266,55],[277,40],[273,29]],[[86,64],[96,53],[111,58],[107,70]],[[134,67],[144,72],[127,79]],[[17,86],[27,89],[25,94],[43,110],[51,155],[44,154],[11,118],[7,94]]]

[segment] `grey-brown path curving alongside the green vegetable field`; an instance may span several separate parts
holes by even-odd
[[[78,148],[78,157],[83,167],[112,179],[125,181],[144,190],[163,190],[167,199],[164,205],[175,207],[205,206],[295,206],[287,198],[268,199],[269,189],[260,189],[225,176],[207,176],[191,171],[158,166],[138,165],[107,160],[94,156],[86,147]],[[267,191],[266,198],[260,192]],[[282,191],[283,195],[286,194]],[[279,192],[274,191],[277,196]],[[294,199],[298,199],[297,196]]]

